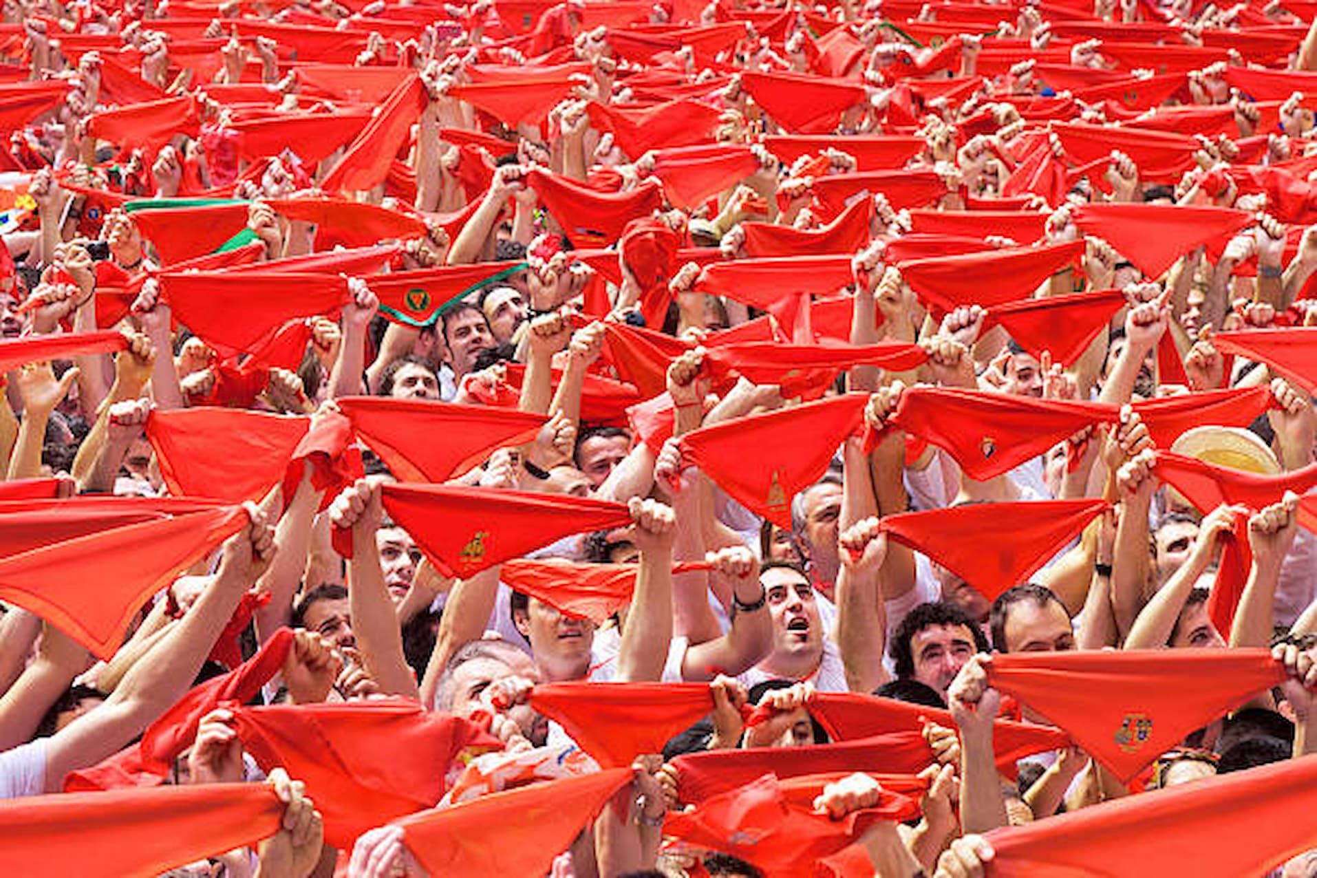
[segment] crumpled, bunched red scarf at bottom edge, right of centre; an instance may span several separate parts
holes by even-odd
[[[664,821],[664,835],[730,853],[765,878],[789,878],[810,874],[819,860],[851,845],[874,821],[909,820],[918,812],[915,800],[884,790],[876,807],[832,820],[827,813],[789,804],[778,779],[765,774],[744,788],[710,798],[694,811],[673,812]]]

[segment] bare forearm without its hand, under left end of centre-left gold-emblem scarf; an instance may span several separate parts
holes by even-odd
[[[416,677],[403,654],[402,631],[394,612],[374,532],[352,530],[352,562],[348,566],[348,599],[352,628],[366,673],[379,691],[403,698],[419,698]]]

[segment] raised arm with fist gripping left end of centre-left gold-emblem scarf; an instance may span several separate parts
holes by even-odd
[[[329,520],[337,528],[352,528],[352,561],[348,563],[348,598],[357,648],[379,691],[403,698],[419,698],[416,675],[407,666],[402,631],[394,612],[385,573],[379,566],[375,532],[383,521],[379,482],[357,479],[344,488],[329,508]]]

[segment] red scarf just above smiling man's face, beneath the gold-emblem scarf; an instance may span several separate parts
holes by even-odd
[[[3,509],[0,509],[3,511]],[[709,570],[703,561],[674,563],[673,574]],[[499,581],[577,619],[603,623],[631,603],[636,588],[633,563],[573,563],[560,558],[514,558],[499,570]]]

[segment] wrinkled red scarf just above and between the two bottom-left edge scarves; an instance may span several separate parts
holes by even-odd
[[[502,749],[474,723],[404,699],[241,707],[233,728],[262,769],[282,766],[307,785],[324,815],[325,841],[341,849],[367,829],[433,807],[454,767]]]

